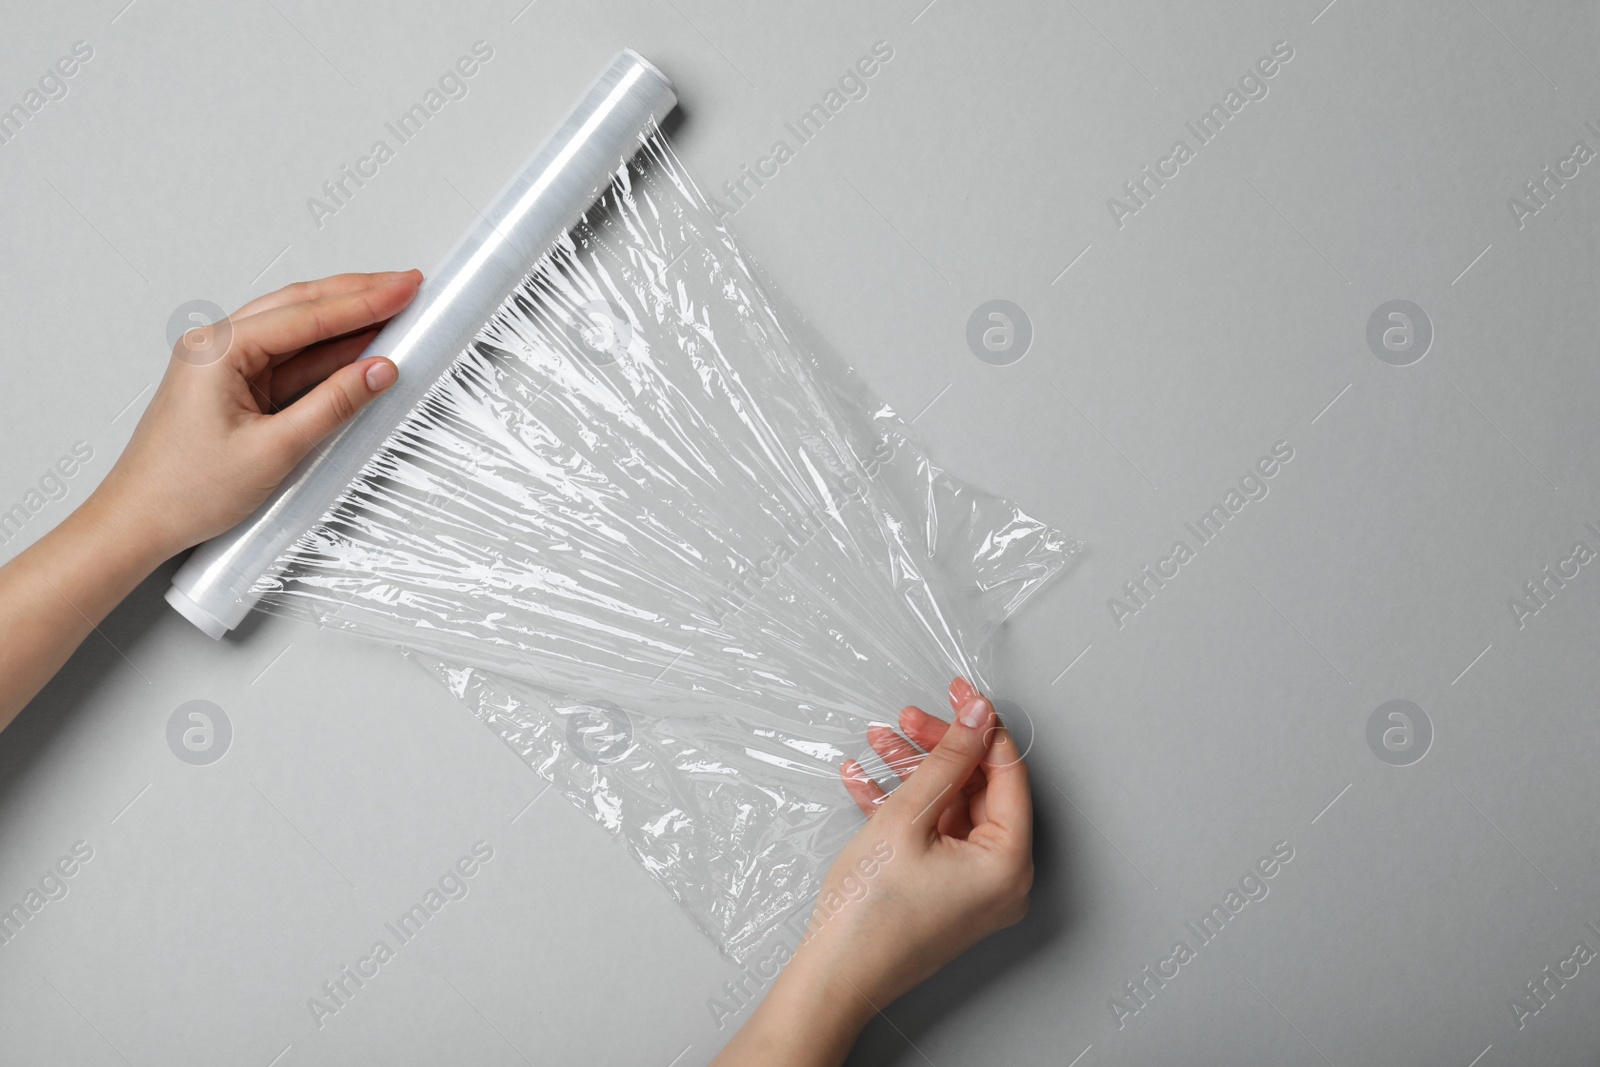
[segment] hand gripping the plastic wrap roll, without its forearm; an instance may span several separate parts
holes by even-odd
[[[242,522],[394,384],[389,360],[352,363],[421,280],[406,270],[301,282],[186,333],[94,494],[106,520],[163,560]]]

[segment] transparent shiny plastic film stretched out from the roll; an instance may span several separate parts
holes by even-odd
[[[1078,545],[795,333],[653,131],[253,590],[400,645],[734,960]]]

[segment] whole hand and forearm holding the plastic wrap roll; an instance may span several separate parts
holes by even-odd
[[[106,480],[0,566],[0,729],[152,569],[256,510],[394,384],[389,360],[350,363],[421,280],[406,270],[304,282],[184,334]]]

